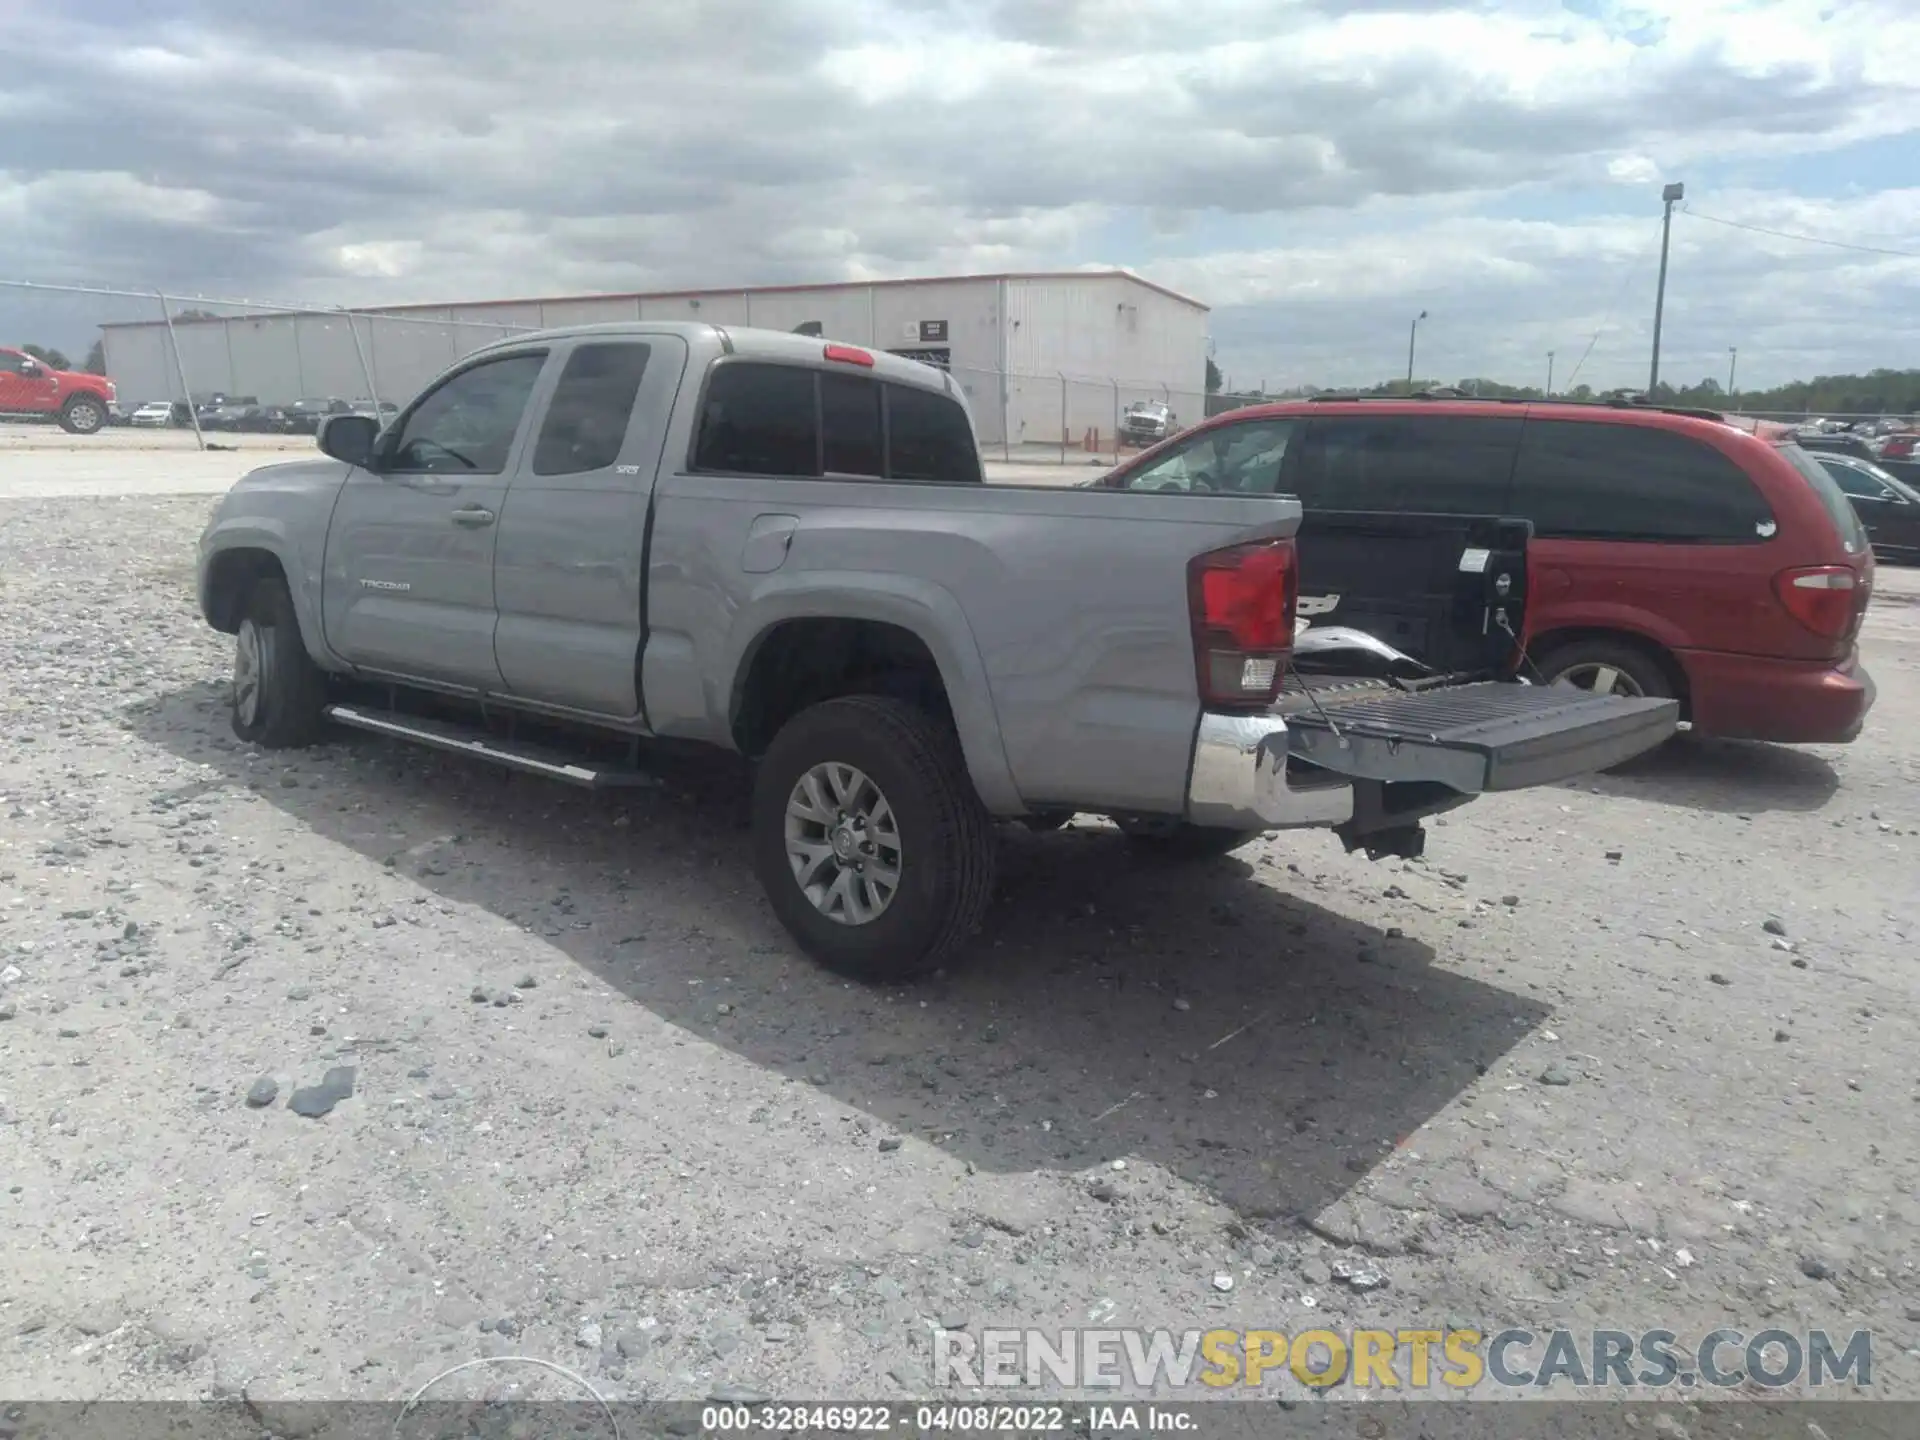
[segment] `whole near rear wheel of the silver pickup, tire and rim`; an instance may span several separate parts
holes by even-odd
[[[849,695],[801,710],[760,760],[753,862],[814,960],[868,981],[924,975],[993,899],[995,835],[952,732]]]

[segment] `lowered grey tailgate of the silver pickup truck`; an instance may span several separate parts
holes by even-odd
[[[1430,689],[1290,680],[1288,753],[1352,780],[1436,781],[1463,795],[1551,785],[1649,751],[1680,703],[1486,680]]]

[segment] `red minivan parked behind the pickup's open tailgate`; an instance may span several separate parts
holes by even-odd
[[[1711,411],[1284,401],[1098,484],[1296,493],[1304,545],[1325,511],[1523,516],[1542,678],[1670,695],[1695,732],[1789,743],[1849,741],[1874,703],[1857,645],[1874,559],[1853,507],[1791,436]],[[1302,612],[1340,622],[1338,597],[1302,595]]]

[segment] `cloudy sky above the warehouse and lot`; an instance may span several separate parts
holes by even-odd
[[[1672,179],[1668,378],[1920,367],[1914,0],[0,0],[0,278],[1123,265],[1236,382],[1394,374],[1425,309],[1423,374],[1632,384]],[[0,342],[125,315],[0,288]]]

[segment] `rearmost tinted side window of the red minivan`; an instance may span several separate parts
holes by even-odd
[[[1772,509],[1713,445],[1672,430],[1528,420],[1513,513],[1542,540],[1759,543]]]

